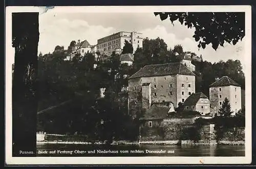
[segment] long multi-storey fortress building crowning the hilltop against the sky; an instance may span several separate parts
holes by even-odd
[[[98,39],[97,50],[100,54],[111,55],[116,49],[123,49],[124,41],[133,45],[133,52],[142,47],[142,34],[137,32],[118,32],[110,36]]]

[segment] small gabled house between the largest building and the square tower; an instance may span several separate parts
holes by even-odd
[[[210,101],[202,92],[191,94],[183,105],[184,110],[198,111],[201,115],[206,115],[210,112]]]

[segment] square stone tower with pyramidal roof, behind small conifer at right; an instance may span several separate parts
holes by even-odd
[[[241,109],[241,86],[228,76],[217,79],[209,86],[210,110],[212,115],[218,113],[225,98],[230,102],[232,116]]]

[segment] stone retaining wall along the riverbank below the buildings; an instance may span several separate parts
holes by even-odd
[[[166,118],[154,121],[153,127],[148,127],[147,122],[141,126],[141,143],[181,143],[183,145],[216,145],[217,136],[214,124],[195,126],[196,118]],[[182,134],[186,129],[196,129],[193,133],[198,133],[198,140],[189,138],[182,139]],[[189,130],[187,130],[189,131]],[[224,132],[223,138],[218,140],[219,144],[244,144],[244,127],[231,128]]]

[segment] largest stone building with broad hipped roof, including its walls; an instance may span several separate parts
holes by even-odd
[[[128,85],[130,106],[136,100],[144,109],[161,102],[177,107],[195,93],[195,74],[181,63],[147,65],[129,77]]]

